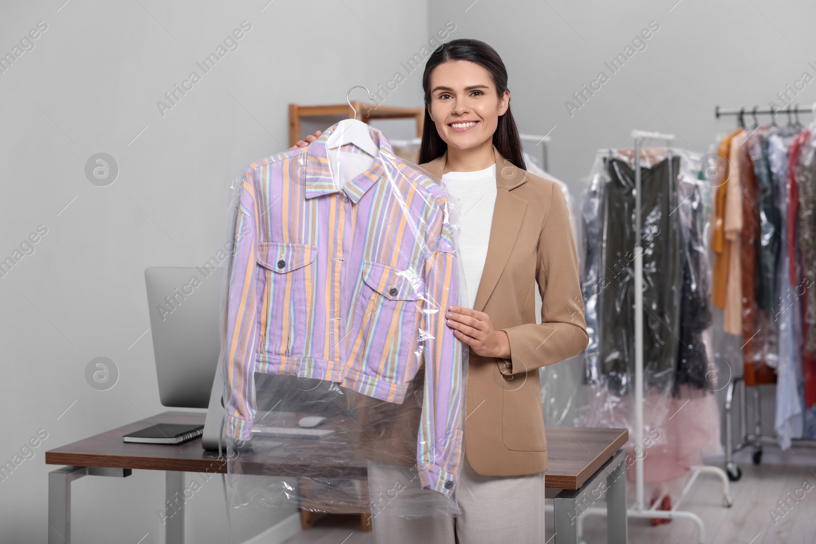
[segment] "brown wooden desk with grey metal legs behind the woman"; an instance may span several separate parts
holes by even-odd
[[[176,493],[183,493],[184,472],[226,473],[226,458],[219,458],[218,452],[202,449],[200,438],[176,446],[122,442],[122,435],[149,427],[152,423],[203,425],[205,415],[203,412],[164,412],[47,451],[47,464],[66,465],[48,475],[49,544],[71,542],[70,483],[84,475],[125,477],[131,475],[132,469],[166,471],[166,498],[172,501]],[[548,497],[555,499],[558,544],[577,542],[577,534],[573,539],[577,502],[580,498],[586,499],[584,496],[596,489],[603,478],[608,483],[607,497],[615,498],[614,505],[613,501],[608,502],[610,538],[614,537],[610,542],[626,542],[626,463],[622,448],[627,440],[625,429],[548,427],[549,467],[545,482]],[[282,473],[313,477],[330,477],[333,472],[332,467],[308,464],[293,467],[290,462],[282,462],[278,468]],[[360,471],[361,478],[365,477],[365,467],[355,470]],[[168,506],[167,515],[167,544],[184,542],[184,509],[171,516]],[[621,530],[623,540],[617,540]]]

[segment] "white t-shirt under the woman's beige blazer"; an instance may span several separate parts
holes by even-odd
[[[487,258],[496,203],[496,165],[475,172],[448,172],[442,175],[442,182],[447,192],[459,200],[459,259],[468,307],[472,308]]]

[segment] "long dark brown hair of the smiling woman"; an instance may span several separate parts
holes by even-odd
[[[496,86],[499,98],[504,94],[504,91],[508,91],[508,71],[504,68],[499,53],[493,47],[481,42],[481,40],[469,38],[460,38],[438,46],[428,57],[425,72],[422,74],[422,88],[425,94],[425,122],[422,130],[422,144],[419,144],[420,164],[441,157],[448,148],[448,144],[441,139],[439,132],[437,132],[437,126],[433,124],[428,108],[431,106],[431,74],[439,64],[449,60],[469,60],[479,64],[493,78],[493,84]],[[493,133],[493,144],[508,161],[522,170],[526,170],[524,157],[521,153],[521,138],[518,136],[516,121],[512,118],[510,104],[508,104],[507,111],[499,116],[499,124]]]

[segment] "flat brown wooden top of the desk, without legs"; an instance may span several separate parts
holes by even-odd
[[[185,471],[225,473],[227,460],[219,458],[218,452],[202,449],[201,439],[184,444],[134,444],[123,442],[122,436],[139,431],[153,423],[204,424],[203,412],[163,412],[148,419],[141,419],[123,427],[79,440],[72,444],[48,450],[46,463],[50,465],[75,465],[78,467],[113,467],[153,471]],[[300,443],[304,440],[277,438],[282,442]],[[601,427],[548,427],[548,471],[545,482],[550,489],[579,489],[628,440],[626,429]],[[225,453],[225,452],[224,452]],[[291,459],[283,460],[277,475],[311,476],[331,478],[335,468],[317,467]],[[307,470],[308,468],[308,470]],[[353,469],[353,470],[350,470]],[[365,467],[345,467],[345,478],[352,472],[365,477]]]

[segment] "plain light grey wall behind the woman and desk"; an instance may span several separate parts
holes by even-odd
[[[764,106],[805,70],[816,75],[814,15],[812,3],[770,0],[4,2],[0,54],[38,21],[47,30],[0,73],[0,259],[39,225],[47,234],[0,277],[0,462],[38,429],[48,436],[0,482],[0,540],[46,540],[47,449],[162,411],[144,268],[194,266],[224,243],[228,184],[286,147],[286,104],[339,103],[350,86],[374,89],[400,71],[386,103],[420,105],[419,73],[400,63],[452,20],[451,38],[503,55],[521,130],[552,129],[551,170],[577,192],[595,149],[629,145],[632,128],[706,151],[734,126],[714,118],[716,104]],[[202,74],[196,62],[243,20],[252,27],[238,49]],[[570,117],[565,100],[609,74],[604,62],[651,20],[660,29],[645,51]],[[193,70],[201,81],[162,115],[157,101]],[[816,100],[814,88],[797,100]],[[118,163],[113,184],[86,178],[95,153]],[[97,356],[118,366],[108,391],[86,383]],[[162,542],[163,481],[149,471],[79,480],[75,540]],[[195,542],[225,541],[212,481],[189,504]],[[236,542],[289,513],[233,515]]]

